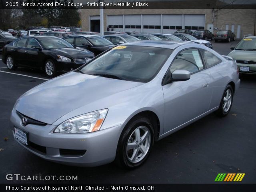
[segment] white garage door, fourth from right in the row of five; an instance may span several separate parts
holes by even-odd
[[[141,15],[124,15],[125,31],[141,32]]]

